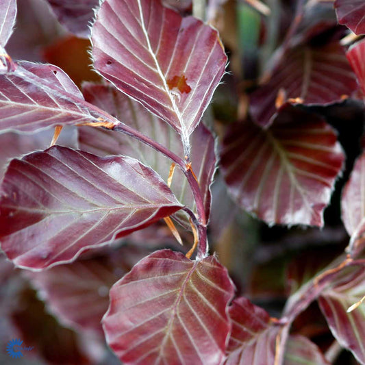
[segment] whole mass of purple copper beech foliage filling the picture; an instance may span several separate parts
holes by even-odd
[[[364,109],[365,41],[353,38],[346,49],[347,28],[334,22],[337,14],[364,34],[363,1],[336,0],[321,12],[315,1],[292,1],[290,16],[277,3],[273,22],[229,3],[239,19],[255,20],[255,57],[261,45],[272,53],[260,72],[243,62],[250,82],[236,75],[225,85],[231,93],[216,90],[228,57],[234,72],[242,64],[223,46],[233,45],[221,27],[232,20],[222,17],[224,0],[200,9],[207,23],[192,16],[201,5],[194,0],[44,1],[60,34],[90,40],[101,81],[80,90],[61,68],[8,54],[16,1],[0,0],[0,340],[23,336],[52,364],[328,365],[341,349],[365,364],[365,155],[357,151],[355,160],[340,144],[343,127],[324,117],[346,103]],[[250,47],[239,42],[245,57]],[[218,110],[235,92],[229,103],[238,101],[239,120]],[[216,169],[221,193],[212,212]],[[234,204],[269,226],[297,226],[297,249],[301,227],[327,232],[331,199],[350,242],[335,242],[332,262],[291,259],[290,251],[279,310],[247,290],[252,277],[234,273],[234,284],[229,254],[247,250],[249,260],[238,262],[245,273],[268,257],[265,244],[251,242],[264,225]],[[219,229],[208,229],[211,216]],[[162,219],[184,247],[165,248],[171,233]],[[299,325],[311,307],[326,341],[315,326]]]

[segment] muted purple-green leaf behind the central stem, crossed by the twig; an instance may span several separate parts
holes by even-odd
[[[97,105],[116,116],[119,120],[125,119],[127,124],[134,129],[142,131],[146,136],[160,142],[181,158],[184,156],[181,140],[177,133],[160,118],[146,112],[140,103],[131,100],[111,85],[88,83],[84,84],[83,92],[86,101],[89,103]],[[190,145],[192,169],[198,177],[201,194],[205,202],[205,214],[208,217],[211,201],[210,184],[212,184],[215,171],[216,156],[214,153],[214,138],[203,123],[192,132]],[[143,164],[153,168],[164,181],[167,181],[171,160],[162,153],[124,134],[93,127],[81,127],[79,128],[79,147],[81,150],[100,156],[128,155],[137,158]],[[181,204],[187,205],[194,210],[192,192],[184,173],[179,168],[175,168],[171,190]],[[181,225],[190,229],[190,223],[183,212],[177,212],[174,217]]]

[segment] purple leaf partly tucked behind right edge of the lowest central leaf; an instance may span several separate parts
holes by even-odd
[[[229,316],[232,331],[225,364],[282,364],[289,330],[287,325],[273,323],[265,310],[244,297],[233,301]]]

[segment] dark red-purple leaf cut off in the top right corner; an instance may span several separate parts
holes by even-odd
[[[335,0],[338,23],[346,25],[355,34],[365,33],[364,0]]]

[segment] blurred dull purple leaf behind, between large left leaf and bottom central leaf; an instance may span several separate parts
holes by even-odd
[[[142,247],[123,246],[39,273],[25,271],[25,275],[58,320],[68,327],[103,335],[101,318],[108,310],[110,288],[148,254]]]

